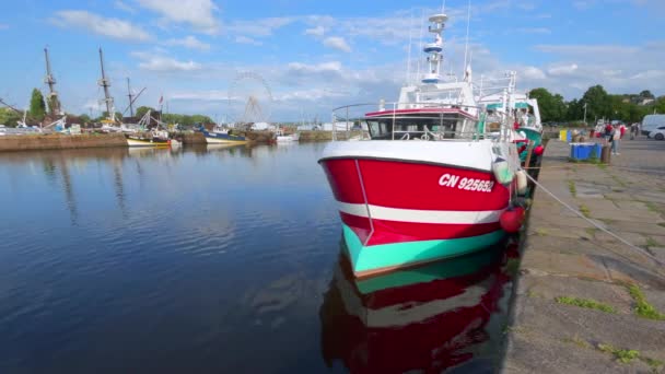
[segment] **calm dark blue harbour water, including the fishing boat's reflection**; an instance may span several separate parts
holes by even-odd
[[[353,281],[324,147],[0,154],[0,372],[491,371],[502,248]]]

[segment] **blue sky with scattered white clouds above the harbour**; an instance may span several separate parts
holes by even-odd
[[[273,120],[329,119],[330,109],[396,100],[413,72],[421,15],[440,1],[108,0],[14,1],[0,15],[0,97],[25,106],[45,89],[48,46],[65,109],[98,113],[97,48],[105,54],[116,109],[127,106],[126,78],[138,105],[240,116],[246,97]],[[518,86],[546,86],[567,98],[603,84],[612,93],[665,94],[663,0],[474,0],[470,50],[475,79],[511,69]],[[445,69],[463,71],[467,1],[451,15]],[[425,33],[427,34],[427,33]],[[429,35],[424,35],[429,38]],[[250,73],[247,73],[250,72]],[[411,74],[412,77],[413,74]],[[241,104],[238,104],[241,103]]]

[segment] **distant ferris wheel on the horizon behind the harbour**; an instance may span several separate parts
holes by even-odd
[[[240,126],[268,122],[272,110],[272,91],[258,73],[235,75],[229,86],[229,117]]]

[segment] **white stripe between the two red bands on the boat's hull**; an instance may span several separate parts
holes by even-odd
[[[342,213],[368,218],[368,209],[364,203],[339,202],[339,211]],[[387,208],[370,204],[372,219],[413,223],[447,223],[447,224],[479,224],[499,222],[502,210],[416,210]]]

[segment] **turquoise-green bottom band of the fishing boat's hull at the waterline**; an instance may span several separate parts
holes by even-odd
[[[497,230],[489,234],[470,237],[381,244],[365,247],[349,226],[342,224],[342,227],[354,272],[462,256],[487,248],[505,236],[505,232]]]

